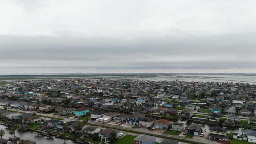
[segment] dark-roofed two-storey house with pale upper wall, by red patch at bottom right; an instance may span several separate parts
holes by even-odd
[[[209,128],[210,140],[226,139],[227,130],[219,127]]]

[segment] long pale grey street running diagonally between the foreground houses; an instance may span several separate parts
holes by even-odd
[[[11,108],[10,110],[13,110],[13,111],[16,111],[16,112],[36,112],[36,111],[22,111],[22,110],[18,110],[18,109],[15,109],[15,108]],[[80,121],[78,120],[77,118],[64,118],[62,116],[56,116],[56,115],[52,115],[52,114],[43,114],[43,113],[37,113],[36,114],[38,116],[49,116],[49,117],[54,117],[54,118],[63,118],[64,122],[70,122],[70,121]],[[46,119],[46,120],[51,120],[51,118],[43,118],[43,119]],[[94,122],[94,121],[90,121],[88,122],[88,125],[90,124],[94,124],[94,125],[98,125],[98,126],[101,126],[101,127],[104,127],[104,126],[109,126],[109,127],[116,127],[116,128],[122,128],[122,129],[130,129],[132,131],[136,131],[136,132],[145,132],[145,133],[148,133],[148,134],[156,134],[156,135],[161,135],[161,136],[166,136],[167,138],[170,137],[170,138],[177,138],[177,139],[183,139],[183,140],[190,140],[190,141],[194,141],[194,142],[200,142],[200,143],[204,143],[204,144],[220,144],[216,141],[212,141],[212,140],[201,140],[201,139],[197,139],[197,138],[186,138],[184,136],[176,136],[176,135],[170,135],[170,134],[162,134],[162,133],[159,133],[159,132],[154,132],[154,131],[149,131],[149,130],[144,130],[142,128],[126,128],[126,127],[123,127],[123,126],[118,126],[118,125],[112,125],[112,124],[102,124],[102,122]],[[129,134],[129,135],[132,135],[132,136],[138,136],[139,134],[137,133],[132,133],[132,132],[125,132],[124,131],[124,134]],[[185,143],[182,143],[182,144],[185,144]]]

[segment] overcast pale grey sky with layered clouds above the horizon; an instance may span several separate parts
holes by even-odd
[[[1,0],[0,74],[256,73],[255,0]]]

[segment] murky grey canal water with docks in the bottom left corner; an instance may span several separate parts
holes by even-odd
[[[5,131],[5,135],[2,136],[2,138],[8,139],[9,137],[12,136],[9,134],[10,128],[6,128],[5,126],[0,125],[0,129],[3,129]],[[30,130],[28,130],[28,131],[16,130],[15,136],[18,136],[18,137],[20,137],[20,139],[23,139],[23,140],[32,140],[32,141],[36,142],[36,144],[76,144],[72,140],[65,140],[62,138],[54,138],[54,136],[51,138],[48,138],[46,136],[40,136],[40,135],[34,134],[34,132],[30,131]]]

